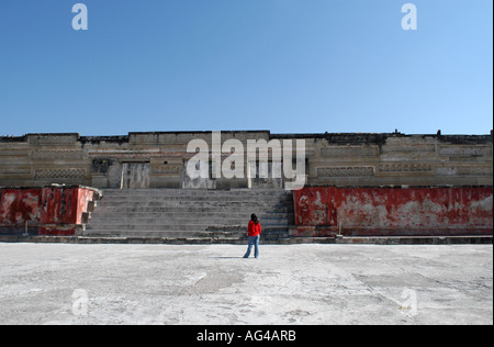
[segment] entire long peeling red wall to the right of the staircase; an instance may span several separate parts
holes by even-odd
[[[335,188],[294,192],[292,235],[492,235],[492,187]]]

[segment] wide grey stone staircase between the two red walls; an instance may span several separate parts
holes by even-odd
[[[284,190],[103,190],[81,236],[246,239],[250,214],[262,239],[289,238],[293,195]]]

